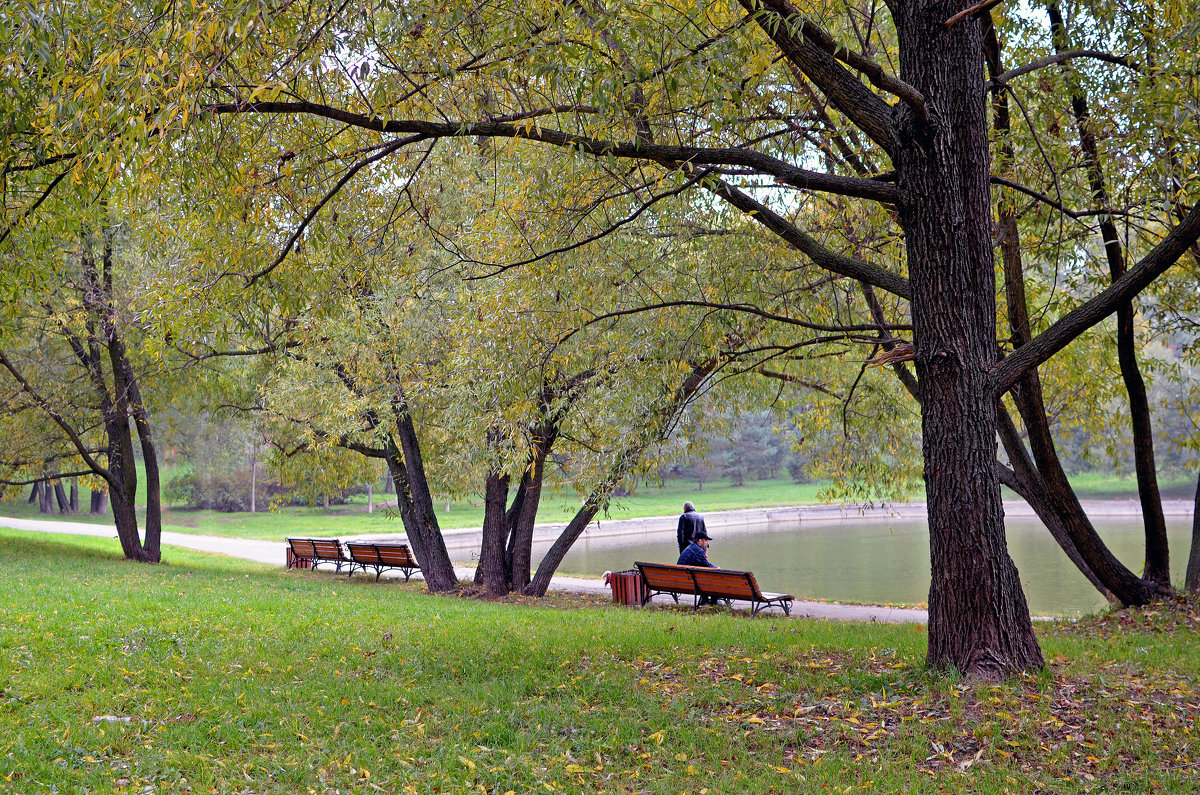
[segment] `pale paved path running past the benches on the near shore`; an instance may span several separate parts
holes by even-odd
[[[640,521],[640,520],[634,520]],[[661,521],[661,520],[660,520]],[[671,520],[674,521],[673,519]],[[108,525],[90,525],[74,521],[52,521],[41,519],[10,519],[0,516],[0,527],[24,530],[41,533],[67,533],[72,536],[95,536],[100,538],[116,538],[116,531]],[[166,546],[182,546],[202,552],[216,552],[230,557],[240,557],[247,561],[266,563],[270,566],[284,566],[287,544],[284,542],[262,542],[251,538],[224,538],[221,536],[193,536],[191,533],[175,533],[163,531],[162,543]],[[389,576],[390,572],[384,573]],[[475,575],[472,568],[456,569],[458,579],[470,580]],[[416,574],[414,576],[420,576]],[[556,576],[550,585],[556,591],[571,591],[583,593],[608,593],[608,586],[600,580],[592,580],[575,576]],[[670,597],[655,597],[654,602],[671,604]],[[737,603],[738,608],[749,609],[748,604]],[[778,608],[768,608],[763,612],[782,614]],[[805,618],[841,618],[847,621],[871,621],[880,623],[925,623],[929,615],[925,610],[913,608],[889,608],[881,605],[839,604],[835,602],[796,602],[792,605],[792,615]]]

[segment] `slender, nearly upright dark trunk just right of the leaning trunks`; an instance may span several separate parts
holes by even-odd
[[[1066,49],[1067,26],[1057,2],[1046,6],[1050,13],[1050,28],[1054,31],[1055,50]],[[1069,66],[1063,66],[1069,71]],[[1087,175],[1096,208],[1108,210],[1111,205],[1109,191],[1100,168],[1099,147],[1092,128],[1092,114],[1087,107],[1087,97],[1078,83],[1072,85],[1070,109],[1079,130],[1079,145],[1087,163]],[[1109,275],[1112,281],[1126,274],[1124,246],[1121,233],[1112,215],[1099,216],[1100,238],[1104,241],[1104,253],[1109,263]],[[1134,337],[1133,301],[1126,301],[1117,310],[1117,363],[1121,378],[1124,381],[1129,399],[1129,424],[1133,432],[1134,470],[1138,473],[1138,496],[1141,501],[1141,515],[1146,534],[1146,569],[1142,576],[1160,590],[1171,586],[1170,548],[1166,540],[1166,519],[1163,516],[1163,501],[1158,491],[1158,474],[1154,467],[1154,434],[1150,418],[1150,400],[1146,396],[1146,382],[1138,366],[1138,346]]]

